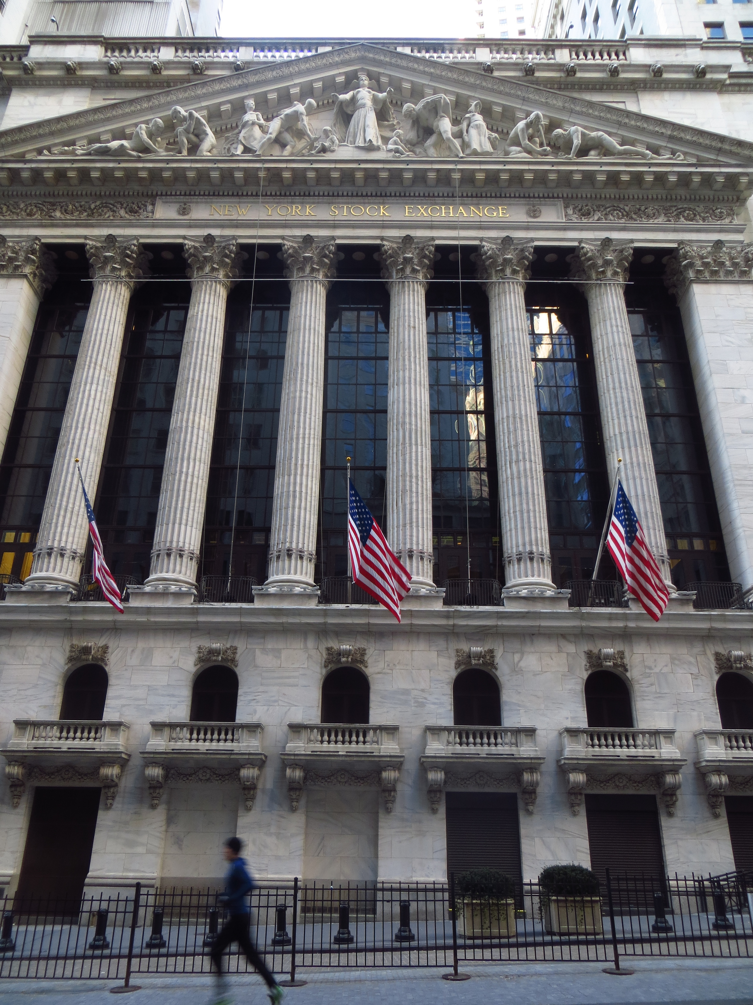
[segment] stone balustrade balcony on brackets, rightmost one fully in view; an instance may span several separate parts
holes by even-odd
[[[583,793],[658,792],[674,816],[687,764],[674,730],[564,729],[557,764],[565,773],[570,809],[580,812]]]

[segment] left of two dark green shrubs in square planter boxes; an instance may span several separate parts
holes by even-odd
[[[460,934],[467,939],[515,935],[515,882],[501,869],[469,869],[455,876]]]

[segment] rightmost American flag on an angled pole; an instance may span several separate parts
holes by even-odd
[[[619,479],[609,532],[606,535],[606,547],[628,585],[628,592],[638,598],[650,617],[659,621],[670,599],[670,591],[662,578],[657,560],[646,544],[644,529],[639,524],[636,511]]]

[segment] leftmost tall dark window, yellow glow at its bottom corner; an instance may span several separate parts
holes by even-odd
[[[39,308],[0,465],[0,574],[25,579],[91,287],[67,276]]]

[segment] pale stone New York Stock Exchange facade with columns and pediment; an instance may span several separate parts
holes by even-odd
[[[632,102],[599,104],[575,84],[533,86],[508,66],[482,72],[487,60],[368,44],[298,52],[291,66],[257,59],[246,40],[223,64],[233,72],[213,66],[195,81],[162,46],[151,64],[123,56],[118,85],[128,78],[135,89],[88,108],[76,74],[75,88],[40,83],[57,59],[45,44],[17,47],[24,68],[11,61],[5,73],[0,445],[52,253],[61,264],[85,247],[94,292],[31,575],[8,583],[0,604],[0,883],[18,883],[34,792],[55,785],[103,790],[92,890],[214,883],[233,832],[269,880],[444,880],[445,791],[518,794],[526,879],[554,862],[590,863],[581,808],[597,793],[656,797],[669,872],[733,869],[724,793],[753,795],[753,755],[720,753],[715,687],[720,670],[751,677],[753,613],[744,603],[694,609],[674,587],[658,623],[634,601],[568,606],[553,580],[525,295],[528,283],[546,288],[543,273],[531,278],[534,258],[568,256],[556,277],[582,291],[590,318],[609,478],[621,456],[669,584],[626,308],[631,268],[652,265],[666,280],[685,328],[720,538],[732,580],[753,589],[753,137],[712,132],[714,115],[683,125]],[[104,72],[98,58],[98,49],[81,57],[92,87]],[[38,118],[23,112],[30,80],[42,104],[54,89]],[[739,83],[740,121],[748,86]],[[249,129],[241,143],[251,99],[264,139]],[[565,156],[556,130],[577,135],[587,156]],[[414,578],[400,624],[382,608],[316,603],[327,296],[347,277],[338,249],[355,245],[355,260],[375,257],[372,281],[389,296],[385,527]],[[150,248],[183,249],[188,279],[179,269],[171,281],[190,281],[190,305],[151,568],[118,614],[70,599],[86,529],[73,458],[93,499],[129,301],[152,281]],[[483,283],[489,307],[505,579],[497,606],[450,605],[433,570],[426,311],[442,255],[457,261],[469,250],[463,285]],[[275,254],[290,315],[266,582],[245,603],[197,602],[228,294]],[[65,680],[92,661],[108,687],[101,725],[78,724],[84,742],[59,715]],[[217,723],[191,722],[192,688],[216,664],[237,672],[238,706],[235,723],[210,736]],[[342,666],[370,687],[354,753],[328,750],[319,729],[322,682]],[[449,737],[453,681],[469,668],[500,686],[496,759],[458,757]],[[584,737],[584,682],[599,669],[626,683],[635,723],[608,757]]]

